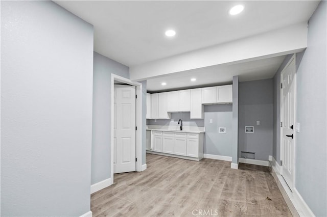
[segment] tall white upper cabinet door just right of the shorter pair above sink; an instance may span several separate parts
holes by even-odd
[[[201,88],[191,90],[191,119],[203,119],[203,105],[201,101]]]

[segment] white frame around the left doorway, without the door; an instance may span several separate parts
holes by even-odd
[[[137,161],[135,162],[135,171],[141,172],[142,171],[142,84],[138,82],[132,82],[130,79],[125,77],[121,77],[116,74],[111,74],[111,171],[110,171],[110,178],[111,184],[113,184],[113,128],[114,128],[114,81],[118,81],[121,83],[125,83],[131,86],[135,86],[135,91],[137,95],[137,99],[135,100],[135,123],[137,126],[137,130],[135,133],[135,156]]]

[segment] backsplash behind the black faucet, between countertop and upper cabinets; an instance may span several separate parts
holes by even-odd
[[[157,119],[157,122],[154,122],[154,119],[148,119],[147,125],[177,126],[178,120],[181,119],[183,122],[183,126],[198,126],[198,127],[204,126],[203,119],[190,119],[189,112],[171,113],[170,117],[171,117],[170,119],[174,119],[174,122],[171,122],[171,120],[163,120],[163,119]]]

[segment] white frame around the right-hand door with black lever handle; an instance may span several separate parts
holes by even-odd
[[[293,114],[293,120],[294,120],[294,124],[293,124],[293,130],[294,130],[294,133],[293,133],[293,142],[294,142],[294,149],[293,149],[293,170],[294,170],[294,173],[293,173],[293,189],[291,189],[291,191],[293,192],[294,191],[294,188],[295,188],[295,173],[296,173],[296,100],[297,100],[297,91],[296,91],[296,53],[294,53],[294,55],[291,57],[291,59],[287,62],[287,64],[285,65],[285,67],[283,68],[283,70],[281,71],[281,79],[279,81],[280,84],[283,83],[283,73],[285,72],[286,68],[292,63],[292,61],[294,60],[294,68],[295,68],[295,73],[294,73],[294,78],[293,78],[293,82],[294,82],[294,114]],[[279,107],[279,110],[280,110],[280,117],[279,117],[279,123],[282,122],[283,120],[283,89],[281,89],[281,95],[280,95],[280,107]],[[279,147],[280,147],[280,152],[281,152],[281,155],[280,155],[280,160],[283,159],[283,156],[284,156],[284,152],[283,152],[283,127],[281,127],[281,124],[279,124],[279,129],[280,129],[280,141],[279,141]],[[279,165],[281,164],[281,162],[279,162]],[[283,168],[281,166],[281,171],[280,171],[281,175],[283,176]]]

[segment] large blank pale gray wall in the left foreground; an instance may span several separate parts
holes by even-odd
[[[49,1],[2,2],[2,216],[90,210],[92,25]]]

